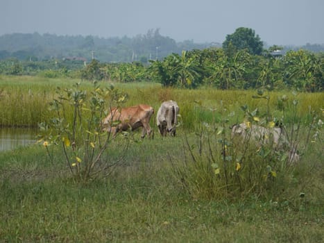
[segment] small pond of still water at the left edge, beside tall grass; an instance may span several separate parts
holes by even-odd
[[[37,130],[31,128],[0,128],[0,152],[35,144],[36,135]]]

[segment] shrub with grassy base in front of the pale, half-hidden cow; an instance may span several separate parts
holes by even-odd
[[[267,103],[270,99],[262,92],[253,97],[264,99]],[[293,107],[297,104],[296,100],[292,101]],[[182,161],[171,159],[173,173],[182,188],[196,199],[280,197],[293,181],[296,181],[296,166],[292,165],[290,158],[291,149],[296,152],[300,144],[303,144],[305,149],[309,137],[320,140],[318,134],[320,125],[323,124],[321,119],[314,115],[309,124],[307,138],[302,136],[300,130],[305,131],[305,128],[298,125],[300,117],[294,113],[295,109],[288,112],[289,116],[294,117],[289,119],[292,121],[288,124],[291,130],[289,131],[287,124],[280,125],[287,130],[284,133],[289,140],[287,149],[274,146],[271,137],[267,138],[267,143],[255,141],[250,129],[246,130],[244,138],[240,137],[240,141],[235,142],[228,129],[228,121],[233,113],[225,109],[220,112],[221,122],[201,122],[194,136],[185,135],[185,158]],[[266,112],[259,112],[257,108],[250,111],[248,106],[242,106],[242,110],[245,113],[243,122],[246,122],[247,126],[255,124],[271,128],[275,126],[275,121],[287,120],[285,112],[282,112],[282,117],[273,117],[269,106],[266,106]],[[297,121],[297,124],[294,121]],[[303,142],[300,142],[301,138]]]

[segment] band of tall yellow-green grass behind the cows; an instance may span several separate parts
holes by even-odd
[[[0,76],[0,126],[37,126],[38,123],[49,119],[51,113],[47,110],[49,101],[56,97],[56,87],[72,87],[79,80],[67,78],[41,78],[31,76]],[[92,83],[82,81],[85,90],[91,90]],[[103,82],[101,86],[110,85]],[[180,106],[182,124],[185,128],[194,129],[199,121],[217,121],[220,114],[232,112],[230,122],[235,124],[244,118],[240,107],[247,105],[250,110],[259,109],[266,113],[267,103],[264,99],[252,99],[255,91],[239,90],[181,90],[162,88],[157,83],[116,83],[120,90],[128,94],[125,106],[138,103],[148,103],[155,110],[162,101],[173,99]],[[298,100],[296,112],[304,120],[309,121],[312,110],[320,112],[323,109],[324,93],[270,92],[269,106],[278,107],[282,96],[288,99],[286,117],[291,116],[294,109],[293,99]],[[282,115],[276,109],[275,115]],[[294,111],[295,112],[295,111]]]

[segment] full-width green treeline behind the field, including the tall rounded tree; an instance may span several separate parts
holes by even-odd
[[[149,37],[151,35],[155,37]],[[146,38],[143,42],[149,43],[159,36],[155,31],[141,38]],[[134,49],[139,50],[140,46],[134,44]],[[148,44],[148,47],[154,46],[155,42],[151,46]],[[89,63],[83,58],[44,61],[7,58],[0,60],[0,74],[63,76],[121,83],[152,81],[166,87],[189,89],[208,86],[222,90],[292,88],[305,92],[323,91],[324,52],[305,49],[286,52],[283,49],[278,46],[264,49],[255,31],[241,27],[227,35],[221,47],[173,52],[164,58],[134,58],[132,62],[102,62],[97,58]],[[157,57],[158,53],[155,55]]]

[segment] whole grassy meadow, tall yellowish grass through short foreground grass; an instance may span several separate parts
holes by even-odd
[[[56,87],[76,82],[0,76],[1,126],[37,127],[53,115],[48,103]],[[42,142],[1,152],[0,242],[323,240],[323,92],[114,86],[128,94],[123,106],[148,103],[157,110],[162,101],[176,100],[177,136],[161,137],[153,119],[154,139],[140,140],[139,131],[128,139],[120,134],[105,151],[105,161],[114,165],[108,175],[82,183],[71,176],[60,146],[49,146],[51,158]],[[91,92],[92,83],[81,81],[81,87]],[[245,169],[235,167],[230,126],[247,119],[245,105],[260,118],[271,113],[284,122],[298,140],[297,165],[284,164],[284,157],[280,164],[273,151],[253,150],[244,151]],[[262,180],[268,165],[276,174],[269,171]]]

